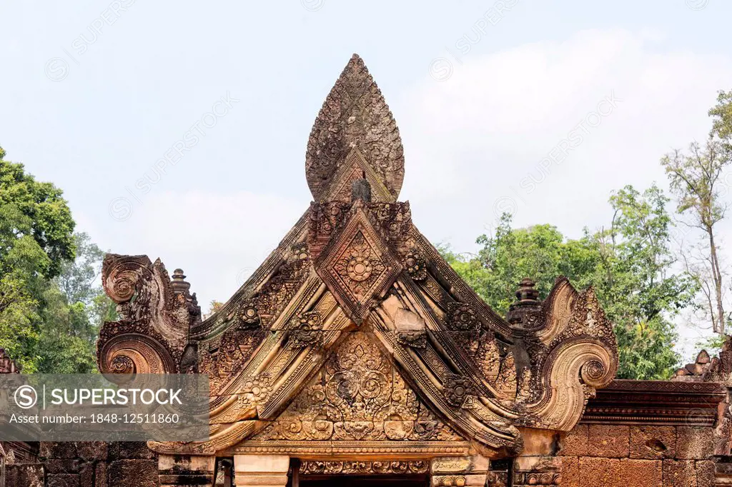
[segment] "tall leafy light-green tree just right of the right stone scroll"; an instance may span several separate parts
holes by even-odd
[[[619,377],[666,379],[679,361],[671,319],[692,306],[698,285],[688,273],[672,272],[667,203],[656,186],[643,194],[626,186],[610,197],[610,230],[595,236],[605,257],[593,279],[616,325]]]

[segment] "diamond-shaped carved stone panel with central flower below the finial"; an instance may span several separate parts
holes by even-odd
[[[359,209],[316,266],[351,319],[363,320],[373,299],[381,298],[401,266]]]

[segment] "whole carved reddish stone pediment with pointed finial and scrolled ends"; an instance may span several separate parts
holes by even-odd
[[[567,431],[613,379],[594,292],[522,282],[507,319],[444,261],[397,201],[403,149],[358,56],[315,121],[314,201],[223,309],[201,320],[182,271],[110,255],[102,371],[211,377],[211,439],[161,453],[514,455],[521,429]],[[133,297],[135,297],[133,299]]]

